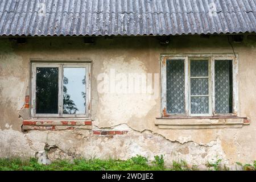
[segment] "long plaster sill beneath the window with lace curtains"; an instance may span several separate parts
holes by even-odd
[[[155,119],[159,129],[222,129],[250,125],[250,119],[234,116],[220,117],[162,117]]]

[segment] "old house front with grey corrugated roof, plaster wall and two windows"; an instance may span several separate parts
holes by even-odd
[[[0,157],[256,159],[256,1],[0,1]]]

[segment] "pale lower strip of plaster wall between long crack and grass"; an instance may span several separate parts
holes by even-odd
[[[185,160],[189,165],[204,166],[216,159],[224,159],[229,165],[220,139],[209,143],[198,144],[192,141],[180,143],[171,141],[162,135],[150,131],[131,130],[126,135],[115,135],[113,138],[96,137],[88,130],[76,131],[31,131],[22,134],[19,131],[0,131],[0,158],[7,156],[34,156],[44,150],[46,144],[55,146],[49,152],[49,159],[73,159],[76,157],[101,159],[128,159],[135,154],[147,156],[153,160],[155,155],[164,154],[166,165],[173,160]]]

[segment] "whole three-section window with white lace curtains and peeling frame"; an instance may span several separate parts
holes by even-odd
[[[237,55],[162,55],[162,115],[237,115]]]

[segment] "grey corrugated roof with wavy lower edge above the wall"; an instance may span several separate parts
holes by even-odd
[[[256,0],[0,0],[0,35],[256,32]]]

